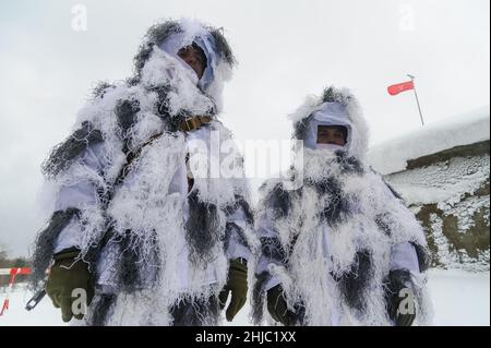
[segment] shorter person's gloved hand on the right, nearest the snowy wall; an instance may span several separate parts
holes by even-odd
[[[416,319],[416,303],[411,286],[411,275],[406,269],[391,271],[386,279],[385,301],[387,304],[388,317],[396,326],[411,326]],[[409,297],[402,296],[403,289],[410,290]],[[402,303],[402,301],[405,301]],[[399,307],[403,304],[408,313],[400,313]],[[411,311],[412,310],[412,311]]]

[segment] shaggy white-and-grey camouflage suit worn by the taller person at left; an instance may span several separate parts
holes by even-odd
[[[177,56],[193,43],[206,56],[200,81]],[[233,147],[217,113],[235,59],[220,31],[182,20],[151,27],[134,62],[133,77],[95,89],[44,164],[55,207],[37,237],[34,284],[53,253],[76,247],[96,277],[86,325],[176,324],[169,309],[183,301],[202,310],[199,324],[216,325],[208,299],[226,284],[228,260],[248,260],[254,243],[242,159],[213,151]],[[211,122],[182,131],[193,116]],[[211,172],[227,158],[239,175]]]

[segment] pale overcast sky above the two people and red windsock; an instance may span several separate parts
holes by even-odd
[[[0,2],[0,244],[27,254],[41,227],[39,165],[99,80],[122,80],[146,28],[195,17],[223,26],[239,65],[223,120],[239,141],[289,139],[307,94],[358,95],[371,144],[489,105],[489,0],[105,0]],[[86,12],[86,22],[83,14]],[[85,26],[86,24],[86,26]]]

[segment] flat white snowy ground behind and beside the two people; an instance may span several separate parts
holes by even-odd
[[[432,269],[429,286],[434,303],[434,325],[490,325],[489,273]],[[0,301],[3,299],[4,292],[0,291]],[[24,310],[28,299],[29,293],[17,287],[10,296],[10,309],[0,316],[0,326],[65,325],[48,297],[33,312]],[[244,308],[232,325],[249,325],[248,312],[249,308]]]

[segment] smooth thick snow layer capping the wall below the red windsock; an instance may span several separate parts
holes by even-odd
[[[410,159],[490,139],[490,107],[452,117],[370,148],[368,160],[382,175],[405,170]]]

